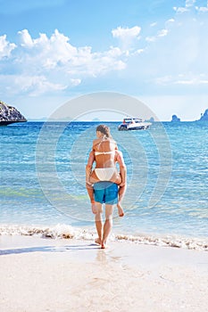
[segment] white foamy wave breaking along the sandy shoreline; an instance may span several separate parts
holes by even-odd
[[[77,239],[77,240],[95,240],[96,232],[90,229],[80,229],[68,225],[56,226],[0,226],[0,235],[26,235],[39,236],[52,239]],[[134,242],[161,247],[175,247],[188,250],[208,251],[208,241],[205,239],[180,237],[173,235],[159,236],[139,234],[126,235],[114,234],[111,240],[119,242]]]

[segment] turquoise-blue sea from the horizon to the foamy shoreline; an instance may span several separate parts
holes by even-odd
[[[85,168],[105,124],[127,166],[125,216],[111,240],[208,250],[208,123],[25,122],[0,127],[0,235],[96,237]]]

